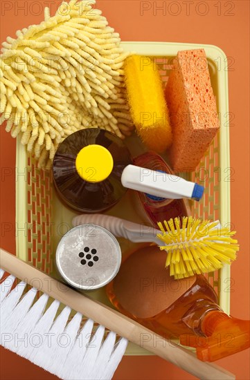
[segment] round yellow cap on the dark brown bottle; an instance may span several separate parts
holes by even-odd
[[[114,161],[111,153],[102,145],[84,146],[75,159],[75,167],[87,182],[101,182],[111,173]]]

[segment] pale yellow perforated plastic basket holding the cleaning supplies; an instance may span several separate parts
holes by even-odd
[[[217,220],[223,226],[230,223],[230,164],[229,164],[229,104],[226,56],[216,46],[198,44],[169,44],[161,42],[123,42],[125,50],[153,57],[159,66],[163,82],[171,70],[172,59],[179,50],[204,48],[208,59],[213,92],[220,115],[220,133],[209,147],[199,167],[193,173],[180,173],[184,178],[204,185],[204,196],[192,205],[193,216]],[[133,139],[132,145],[133,145]],[[131,144],[130,141],[130,144]],[[136,142],[137,144],[137,142]],[[136,149],[134,144],[133,149]],[[16,171],[16,230],[17,256],[42,271],[56,276],[53,270],[55,249],[60,238],[71,228],[75,213],[64,207],[53,188],[49,171],[37,169],[35,160],[27,155],[26,148],[17,142]],[[138,220],[130,202],[130,191],[108,213],[121,218]],[[122,249],[132,243],[120,240]],[[220,306],[229,314],[230,267],[208,274],[208,281],[219,295]],[[105,290],[90,294],[108,303]],[[142,348],[130,344],[127,354],[147,354]]]

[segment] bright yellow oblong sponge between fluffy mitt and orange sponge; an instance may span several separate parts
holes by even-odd
[[[125,84],[136,131],[153,151],[165,151],[172,143],[163,83],[150,57],[131,55],[125,60]]]

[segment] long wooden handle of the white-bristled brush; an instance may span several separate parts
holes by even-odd
[[[199,379],[226,380],[235,379],[230,372],[215,364],[199,361],[195,354],[181,348],[179,345],[163,339],[161,336],[132,321],[123,314],[93,301],[86,295],[80,294],[60,281],[40,272],[35,267],[24,263],[16,256],[0,249],[0,267],[6,272],[25,281],[38,290],[57,299],[64,305],[82,313],[89,319],[107,327],[107,329],[124,336],[128,341],[136,343],[159,357],[170,361],[186,372]]]

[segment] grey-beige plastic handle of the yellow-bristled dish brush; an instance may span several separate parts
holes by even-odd
[[[157,245],[163,244],[157,238],[157,233],[159,232],[157,229],[116,218],[115,216],[103,215],[102,213],[93,215],[82,213],[82,215],[75,216],[72,220],[73,227],[88,223],[104,227],[117,238],[126,238],[134,243],[150,242]]]

